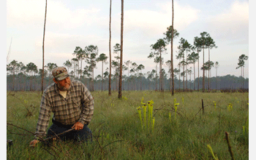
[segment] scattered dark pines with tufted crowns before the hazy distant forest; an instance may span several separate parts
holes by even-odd
[[[167,28],[167,31],[164,33],[165,37],[163,39],[158,39],[155,44],[151,44],[152,52],[148,55],[148,58],[154,58],[154,63],[156,63],[156,69],[153,69],[152,71],[148,71],[147,73],[143,73],[143,69],[145,69],[145,66],[143,64],[137,64],[133,63],[130,60],[127,60],[124,62],[124,65],[120,65],[120,55],[121,55],[121,45],[116,44],[113,46],[113,60],[110,61],[110,67],[113,69],[113,74],[109,73],[110,68],[104,68],[104,64],[108,64],[108,56],[104,53],[99,55],[99,49],[97,46],[89,45],[87,47],[75,47],[74,52],[72,55],[73,57],[71,60],[66,60],[66,62],[63,63],[64,66],[67,67],[67,70],[72,76],[73,79],[87,79],[89,83],[89,89],[91,91],[94,91],[94,79],[97,79],[96,81],[102,81],[101,82],[101,88],[103,89],[103,84],[105,81],[109,82],[109,86],[112,84],[113,87],[118,87],[118,82],[120,83],[120,70],[122,70],[124,73],[127,73],[124,76],[124,79],[122,81],[127,82],[127,90],[130,90],[130,87],[132,87],[132,82],[138,81],[140,83],[140,90],[143,88],[143,79],[145,82],[145,79],[148,81],[151,81],[152,83],[155,83],[155,90],[157,90],[157,86],[159,85],[159,91],[164,91],[165,89],[172,90],[172,85],[176,84],[178,86],[175,87],[175,89],[202,89],[204,92],[204,89],[207,88],[207,90],[214,89],[212,88],[213,85],[211,85],[211,68],[216,68],[216,77],[217,76],[217,69],[219,67],[218,62],[212,62],[210,60],[210,49],[217,47],[215,45],[214,40],[211,38],[211,36],[206,33],[200,33],[200,37],[195,37],[194,39],[194,46],[189,44],[189,42],[181,38],[179,41],[178,46],[178,52],[176,55],[176,60],[178,60],[178,67],[172,69],[171,61],[167,60],[164,62],[162,58],[162,54],[165,54],[165,50],[167,47],[167,44],[170,43],[171,38],[171,30],[172,26]],[[173,38],[178,37],[179,33],[178,31],[174,30],[173,32]],[[204,63],[204,50],[208,49],[208,61]],[[199,55],[200,52],[203,51],[203,66],[200,68],[199,64]],[[241,76],[243,81],[241,81],[241,87],[244,88],[244,65],[245,60],[248,60],[248,56],[241,55],[238,58],[238,68],[241,68]],[[83,66],[83,61],[86,62],[86,66]],[[101,74],[94,76],[94,68],[96,68],[97,63],[101,65]],[[197,81],[195,78],[195,64],[197,63]],[[159,65],[159,67],[158,67]],[[162,68],[162,65],[168,66],[168,70],[165,71],[164,68]],[[192,66],[191,66],[192,65]],[[48,63],[44,66],[44,73],[42,72],[42,69],[37,69],[37,65],[34,63],[29,63],[27,65],[24,65],[22,62],[18,62],[16,60],[12,60],[11,63],[7,65],[7,76],[12,75],[12,79],[15,79],[16,76],[23,75],[29,77],[30,81],[33,81],[36,76],[42,76],[42,73],[44,74],[44,77],[50,78],[51,71],[53,71],[53,68],[56,68],[56,63]],[[121,67],[121,68],[120,68]],[[193,69],[192,69],[193,67]],[[198,80],[200,79],[200,70],[203,71],[203,77],[202,81]],[[208,72],[208,74],[207,74]],[[174,76],[174,82],[171,83],[172,79],[171,76]],[[169,81],[170,84],[166,84],[165,81],[167,81],[167,74],[169,74]],[[193,80],[191,79],[191,76],[194,75]],[[208,77],[207,77],[208,75]],[[181,77],[182,84],[181,84]],[[188,80],[190,77],[190,80]],[[113,83],[111,83],[111,80]],[[207,84],[206,81],[207,80]],[[192,82],[193,81],[193,82]],[[14,80],[13,80],[14,83]],[[157,84],[159,83],[159,84]],[[32,83],[29,83],[32,85]],[[130,85],[129,85],[130,84]],[[189,85],[192,84],[192,88],[189,87]],[[165,87],[164,87],[165,85]],[[12,85],[13,86],[13,85]],[[168,87],[167,87],[168,86]],[[45,88],[45,87],[44,87]],[[125,88],[125,87],[122,87]],[[137,87],[133,87],[133,89],[137,89]],[[150,89],[150,88],[148,88]],[[215,87],[215,89],[218,89]]]

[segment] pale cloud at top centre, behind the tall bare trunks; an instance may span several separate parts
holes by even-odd
[[[166,31],[166,28],[172,23],[172,3],[165,2],[157,4],[160,11],[148,9],[130,9],[124,10],[124,33],[137,31],[143,36],[156,36]],[[180,6],[174,2],[174,26],[178,31],[184,30],[189,24],[197,20],[200,10],[190,6]],[[120,14],[113,18],[114,29],[120,30]]]

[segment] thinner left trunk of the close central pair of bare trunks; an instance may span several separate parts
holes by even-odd
[[[111,0],[110,0],[110,15],[109,15],[109,81],[108,81],[108,95],[111,95]]]

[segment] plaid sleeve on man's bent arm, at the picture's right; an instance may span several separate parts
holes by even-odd
[[[91,92],[89,92],[89,89],[87,89],[84,84],[82,84],[81,92],[82,111],[78,121],[82,124],[89,124],[94,114],[94,98],[92,97]]]

